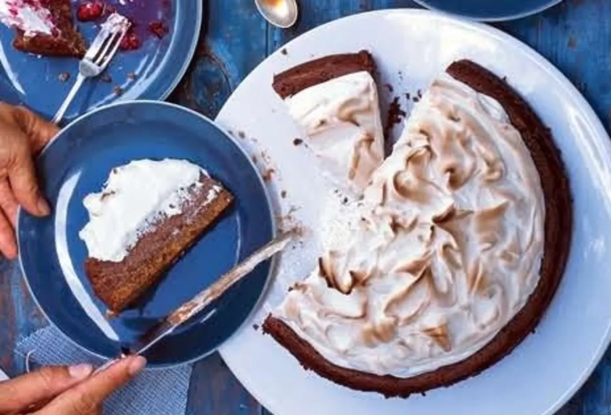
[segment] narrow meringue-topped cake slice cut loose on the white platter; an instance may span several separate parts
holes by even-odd
[[[361,194],[384,159],[373,57],[326,56],[274,76],[274,90],[304,130],[323,171]]]

